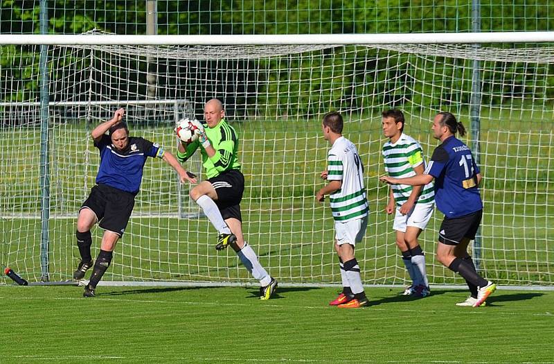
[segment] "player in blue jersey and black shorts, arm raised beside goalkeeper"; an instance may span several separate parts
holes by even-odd
[[[122,121],[124,114],[125,109],[122,107],[111,120],[96,126],[91,132],[94,146],[100,150],[100,167],[96,175],[96,186],[92,187],[77,218],[76,234],[81,262],[73,273],[73,278],[82,279],[84,273],[93,266],[91,227],[98,223],[104,229],[104,235],[91,279],[84,287],[84,297],[94,296],[96,285],[111,263],[116,243],[125,232],[133,211],[134,198],[141,187],[147,157],[163,159],[179,173],[181,182],[196,183],[177,159],[161,146],[141,137],[129,137],[127,125]]]

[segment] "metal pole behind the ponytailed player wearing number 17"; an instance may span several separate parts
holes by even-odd
[[[480,0],[472,0],[472,31],[474,33],[481,31],[481,3]],[[479,44],[474,44],[475,50],[479,49]],[[481,131],[481,61],[474,59],[472,72],[472,94],[470,101],[470,116],[472,129],[472,152],[475,163],[479,166],[481,162],[481,150],[479,147],[479,135]],[[481,227],[476,232],[473,242],[473,261],[476,270],[481,269]]]

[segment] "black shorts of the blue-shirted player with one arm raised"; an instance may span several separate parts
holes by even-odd
[[[134,207],[134,194],[121,191],[106,184],[97,184],[81,209],[89,208],[98,220],[98,226],[123,236]],[[79,211],[80,211],[79,210]]]

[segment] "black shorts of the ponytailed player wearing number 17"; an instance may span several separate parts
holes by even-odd
[[[475,234],[481,225],[483,210],[459,218],[447,218],[440,224],[438,241],[446,245],[458,245],[462,239],[475,239]]]

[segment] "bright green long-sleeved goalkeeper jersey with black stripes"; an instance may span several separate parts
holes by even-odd
[[[198,147],[202,153],[202,164],[206,168],[206,176],[208,178],[216,177],[224,171],[231,169],[240,170],[238,162],[238,137],[235,129],[225,119],[221,119],[214,128],[208,128],[204,123],[206,137],[215,149],[215,155],[208,157],[206,150],[202,148],[200,141],[196,140],[188,144],[184,153],[177,153],[179,162],[185,162],[190,158]]]

